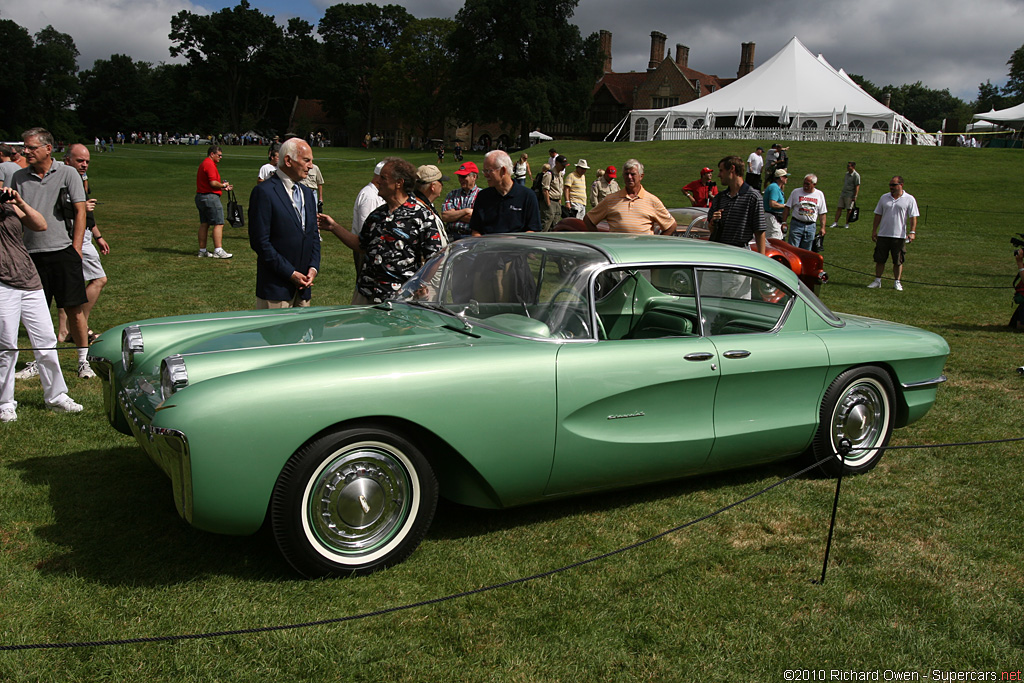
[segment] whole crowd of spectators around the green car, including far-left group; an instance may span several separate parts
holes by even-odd
[[[36,375],[51,410],[82,410],[68,396],[52,349],[70,337],[78,347],[79,377],[94,377],[86,361],[94,337],[88,319],[106,283],[99,257],[110,252],[92,218],[95,202],[88,199],[88,147],[71,145],[61,163],[53,158],[53,139],[47,131],[34,128],[23,139],[22,150],[0,145],[3,422],[16,419],[14,379]],[[527,153],[515,162],[503,150],[487,153],[480,166],[463,161],[454,173],[458,186],[446,194],[444,183],[451,178],[437,165],[417,168],[399,157],[388,157],[376,165],[359,190],[346,227],[324,213],[325,179],[313,163],[315,144],[315,139],[299,137],[271,141],[267,163],[253,178],[248,231],[256,254],[257,308],[310,304],[323,232],[352,251],[356,268],[352,303],[375,304],[393,297],[431,256],[458,240],[555,229],[672,234],[677,227],[662,199],[644,187],[645,169],[639,160],[628,160],[621,172],[615,166],[599,168],[592,180],[586,159],[570,164],[555,148],[536,175]],[[712,241],[744,249],[753,246],[765,253],[769,239],[784,237],[796,247],[810,249],[816,238],[840,226],[844,212],[842,227],[850,226],[861,185],[856,163],[847,164],[835,220],[826,225],[828,209],[815,174],[806,174],[786,197],[787,150],[774,144],[767,154],[756,148],[745,161],[725,157],[717,164],[718,182],[712,178],[715,170],[703,166],[696,180],[682,186],[692,206],[707,209]],[[210,144],[197,170],[201,258],[233,256],[222,244],[223,194],[233,190],[233,184],[220,176],[222,158],[221,146]],[[478,185],[481,173],[484,187]],[[763,180],[767,182],[762,191]],[[881,287],[891,260],[894,287],[902,290],[906,244],[916,237],[918,215],[916,201],[903,189],[902,177],[894,176],[890,191],[879,199],[873,212],[877,276],[868,287]],[[60,311],[56,331],[49,317],[52,301]],[[16,348],[19,323],[39,350],[33,361],[15,372],[17,353],[7,349]]]

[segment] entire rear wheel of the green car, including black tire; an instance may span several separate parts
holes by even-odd
[[[829,476],[843,467],[841,445],[849,441],[847,473],[874,467],[893,432],[895,391],[889,375],[879,368],[848,370],[828,386],[821,401],[814,457]]]

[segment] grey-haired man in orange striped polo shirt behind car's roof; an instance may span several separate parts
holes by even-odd
[[[672,234],[676,219],[662,204],[662,200],[643,188],[643,164],[636,159],[623,167],[625,187],[605,197],[600,204],[584,216],[587,229],[596,230],[597,224],[607,219],[610,232],[634,234]]]

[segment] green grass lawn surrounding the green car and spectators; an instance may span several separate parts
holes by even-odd
[[[727,154],[745,158],[757,143],[555,145],[592,169],[639,158],[645,186],[672,207],[688,204],[680,187],[700,167]],[[535,170],[549,146],[530,152]],[[245,204],[264,153],[225,150],[221,174]],[[103,259],[110,284],[91,319],[97,332],[253,305],[255,259],[244,228],[225,228],[233,259],[196,258],[193,197],[204,155],[141,145],[93,153],[96,219],[112,247]],[[314,156],[327,178],[326,211],[348,225],[355,194],[384,155]],[[1024,378],[1014,373],[1024,365],[1024,337],[1006,328],[1016,268],[1009,237],[1024,229],[1024,189],[1016,176],[1008,183],[993,173],[1012,173],[1020,151],[795,143],[790,156],[791,172],[817,173],[833,204],[847,161],[863,178],[861,220],[826,240],[823,300],[937,332],[951,347],[936,407],[896,432],[894,444],[1024,436]],[[407,158],[435,162],[430,154]],[[442,170],[451,176],[456,168],[450,157]],[[924,214],[902,293],[889,282],[866,289],[871,211],[894,174]],[[352,281],[350,252],[328,236],[313,302],[346,303]],[[983,289],[991,287],[999,289]],[[73,354],[62,358],[70,370]],[[435,598],[648,538],[796,469],[786,463],[506,511],[442,503],[406,563],[359,579],[301,581],[267,538],[214,536],[181,521],[170,482],[106,425],[98,381],[68,379],[84,414],[45,412],[39,382],[30,380],[17,384],[18,421],[0,425],[0,645],[302,623]],[[770,396],[764,410],[772,410]],[[0,652],[0,681],[782,681],[793,669],[985,671],[998,680],[1024,654],[1021,452],[1020,443],[891,451],[874,471],[846,479],[823,586],[811,582],[835,484],[800,478],[549,579],[310,629]]]

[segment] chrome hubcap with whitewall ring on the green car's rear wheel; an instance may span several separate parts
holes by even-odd
[[[846,457],[847,465],[856,467],[874,458],[886,437],[890,412],[889,394],[881,383],[871,378],[852,383],[833,412],[833,451],[838,454],[839,444],[848,439],[853,451]]]

